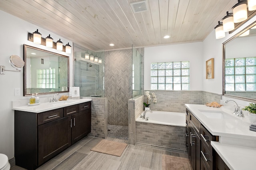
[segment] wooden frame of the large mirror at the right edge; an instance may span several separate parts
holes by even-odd
[[[230,39],[228,39],[227,41],[222,43],[222,96],[227,96],[230,98],[236,98],[236,99],[256,103],[256,99],[253,99],[253,98],[245,98],[245,97],[241,97],[241,96],[225,94],[225,59],[226,59],[225,58],[225,48],[226,48],[225,45],[255,25],[256,25],[256,21],[254,21],[253,23],[251,23],[250,25],[245,27],[242,31],[240,31],[239,33],[237,33],[236,35],[234,35],[233,37],[231,37]]]

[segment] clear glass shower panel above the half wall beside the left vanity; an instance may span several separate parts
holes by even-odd
[[[86,54],[97,57],[98,62],[86,59]],[[80,87],[80,96],[104,97],[104,51],[79,51],[74,57],[74,86]]]

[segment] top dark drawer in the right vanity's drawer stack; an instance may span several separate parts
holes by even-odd
[[[218,141],[218,137],[208,132],[203,125],[201,125],[201,141],[208,150],[212,150],[211,141]]]

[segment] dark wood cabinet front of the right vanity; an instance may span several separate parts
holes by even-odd
[[[218,136],[208,132],[186,109],[186,148],[193,170],[215,170],[215,155],[210,145],[211,141],[218,141]]]

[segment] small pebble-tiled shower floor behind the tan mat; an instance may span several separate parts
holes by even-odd
[[[128,140],[128,126],[108,125],[108,137]]]

